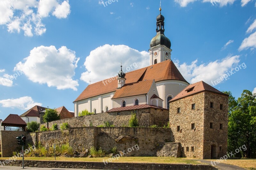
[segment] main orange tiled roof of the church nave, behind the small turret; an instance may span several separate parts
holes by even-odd
[[[128,72],[126,73],[125,78],[127,84],[152,79],[154,79],[155,82],[163,80],[180,80],[188,83],[180,74],[180,71],[174,65],[172,60],[166,60],[142,69]],[[116,92],[116,88],[117,80],[115,77],[113,77],[112,80],[111,78],[102,80],[88,85],[74,102],[109,92]]]

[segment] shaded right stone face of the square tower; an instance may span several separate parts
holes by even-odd
[[[203,159],[220,158],[227,154],[228,147],[228,96],[204,92],[204,156]],[[213,107],[210,107],[210,102]],[[220,104],[223,105],[220,110]],[[212,122],[212,129],[210,128]],[[220,123],[222,129],[220,129]],[[213,147],[211,149],[211,147]],[[220,151],[221,147],[221,151]]]

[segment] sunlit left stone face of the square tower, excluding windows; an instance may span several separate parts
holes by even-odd
[[[191,109],[192,104],[196,104],[196,109]],[[179,107],[180,113],[177,113]],[[192,123],[195,123],[195,129],[191,129]],[[177,126],[180,126],[180,131],[177,131]],[[170,127],[175,142],[180,142],[184,148],[182,157],[203,158],[204,92],[170,102]]]

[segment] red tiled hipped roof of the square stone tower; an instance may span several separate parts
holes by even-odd
[[[181,98],[184,98],[184,97],[187,97],[187,96],[190,96],[190,95],[193,95],[193,94],[196,94],[196,93],[199,93],[199,92],[204,92],[204,91],[218,93],[218,94],[228,96],[228,94],[220,92],[219,90],[215,89],[211,85],[208,85],[204,81],[199,81],[197,83],[188,85],[188,87],[183,89],[179,94],[177,94],[174,98],[172,98],[170,100],[170,102],[181,99]]]

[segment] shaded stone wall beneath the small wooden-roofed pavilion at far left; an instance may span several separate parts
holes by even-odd
[[[18,145],[16,137],[20,135],[26,135],[25,131],[8,131],[1,130],[1,148],[2,148],[2,157],[12,156],[12,152],[20,151],[21,146]]]

